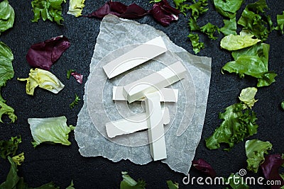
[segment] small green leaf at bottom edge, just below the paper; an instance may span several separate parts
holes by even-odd
[[[145,189],[145,181],[138,179],[135,181],[127,172],[121,172],[123,180],[120,183],[120,189]]]

